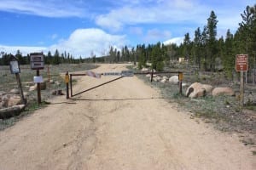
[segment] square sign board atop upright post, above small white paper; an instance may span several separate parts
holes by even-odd
[[[30,54],[30,65],[32,70],[44,69],[44,55],[43,53]]]

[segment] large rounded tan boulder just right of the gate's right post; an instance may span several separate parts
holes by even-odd
[[[186,91],[186,96],[193,99],[198,97],[203,97],[206,94],[207,94],[207,91],[205,88],[203,88],[200,82],[195,82],[191,84]]]

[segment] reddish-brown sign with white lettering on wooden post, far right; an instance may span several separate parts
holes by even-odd
[[[243,106],[244,102],[244,81],[243,73],[248,71],[248,55],[237,54],[236,55],[236,71],[240,71],[240,105]]]

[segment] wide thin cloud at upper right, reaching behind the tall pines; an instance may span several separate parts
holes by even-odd
[[[146,2],[145,2],[146,1]],[[207,25],[207,18],[213,10],[217,14],[218,29],[236,31],[241,22],[240,14],[250,5],[250,0],[203,1],[203,0],[137,0],[112,8],[106,14],[96,17],[96,24],[109,31],[123,31],[125,26],[152,24],[184,25],[192,29]],[[126,2],[126,3],[125,3]],[[146,26],[145,26],[146,27]],[[184,33],[184,32],[183,32]]]

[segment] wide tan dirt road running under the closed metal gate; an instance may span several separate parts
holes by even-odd
[[[80,77],[74,91],[113,78]],[[256,157],[236,134],[195,122],[137,77],[51,103],[0,132],[1,170],[256,169]]]

